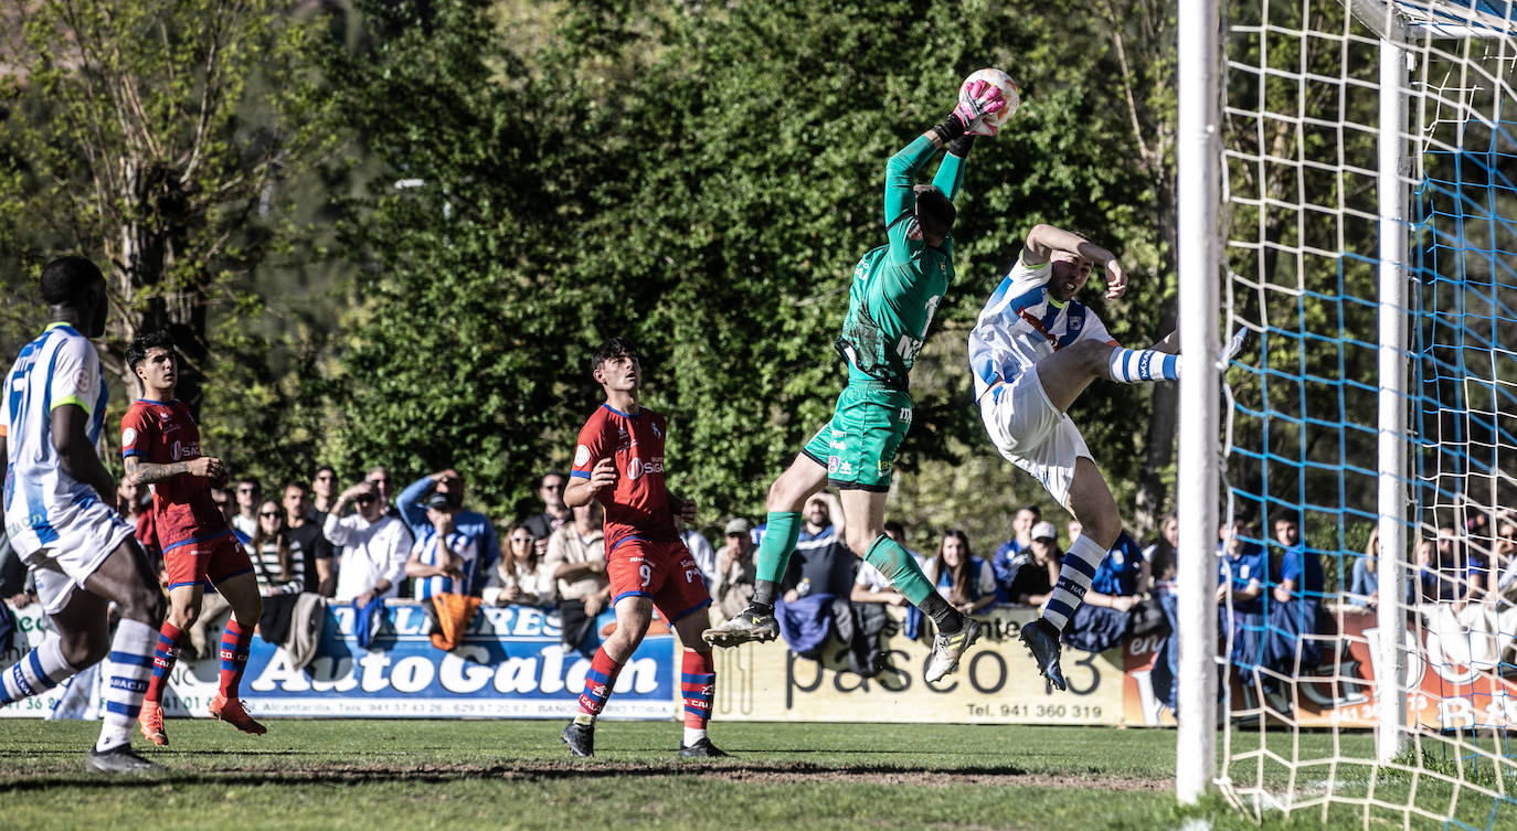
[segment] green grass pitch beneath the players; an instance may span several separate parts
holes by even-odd
[[[1259,828],[1221,799],[1176,802],[1173,731],[719,723],[713,738],[737,758],[702,763],[674,757],[675,723],[605,722],[593,760],[569,758],[560,728],[275,720],[253,738],[181,719],[173,746],[147,752],[168,772],[130,779],[83,772],[93,723],[6,719],[0,828]],[[1347,810],[1262,825],[1361,826]]]

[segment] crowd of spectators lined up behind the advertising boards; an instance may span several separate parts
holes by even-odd
[[[396,493],[384,467],[344,488],[337,472],[323,466],[309,482],[287,482],[269,497],[258,481],[244,478],[212,491],[212,499],[247,547],[264,597],[319,594],[363,608],[375,601],[425,602],[464,594],[484,605],[537,607],[557,611],[567,649],[589,654],[599,637],[595,619],[610,604],[602,516],[595,502],[567,508],[566,481],[557,472],[543,475],[537,488],[542,510],[502,525],[499,534],[490,517],[466,506],[464,479],[452,469]],[[123,484],[117,499],[121,516],[161,563],[149,510],[152,494]],[[780,587],[781,632],[802,655],[815,655],[825,638],[836,635],[850,644],[854,669],[872,675],[887,652],[880,635],[904,629],[916,637],[921,619],[910,614],[913,610],[884,575],[846,547],[836,496],[819,493],[809,499],[802,520]],[[898,522],[884,528],[912,549]],[[730,517],[722,531],[716,547],[696,529],[681,528],[710,590],[715,620],[737,614],[752,597],[763,526]],[[1079,537],[1080,526],[1071,520],[1060,534],[1029,505],[1016,510],[1012,531],[1010,540],[985,546],[994,553],[983,558],[960,529],[934,534],[927,540],[930,553],[912,555],[942,597],[966,614],[1041,607],[1059,579],[1062,543]],[[1124,531],[1065,631],[1066,643],[1100,652],[1132,634],[1173,631],[1177,543],[1174,516],[1161,522],[1147,544]],[[1324,640],[1315,635],[1330,631],[1329,604],[1350,613],[1377,607],[1385,569],[1377,529],[1370,529],[1362,552],[1341,547],[1308,544],[1294,511],[1264,517],[1262,523],[1238,517],[1220,528],[1218,625],[1242,681],[1262,678],[1268,693],[1274,679],[1315,669]],[[11,607],[27,605],[24,569],[14,558],[3,567],[0,593]],[[1443,523],[1435,535],[1418,540],[1406,573],[1408,605],[1443,607],[1458,620],[1473,614],[1467,610],[1517,596],[1517,513],[1476,513],[1459,523]],[[226,613],[214,593],[205,602],[206,634],[191,640],[191,649],[200,654],[211,652],[214,644],[208,641],[220,625],[217,613]],[[903,611],[892,617],[890,607]],[[903,613],[904,626],[890,623]],[[1167,640],[1156,667],[1161,698],[1171,705],[1173,652]],[[1171,670],[1168,678],[1165,667]]]

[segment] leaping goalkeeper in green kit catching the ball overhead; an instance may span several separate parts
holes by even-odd
[[[980,637],[980,625],[948,605],[912,555],[884,535],[884,499],[895,452],[912,426],[907,376],[954,278],[953,199],[974,141],[971,133],[995,135],[997,124],[989,124],[988,117],[1007,106],[1013,105],[994,83],[971,80],[942,124],[890,156],[884,174],[889,243],[865,253],[854,267],[848,317],[836,343],[848,362],[848,385],[837,396],[831,420],[769,485],[752,602],[702,634],[711,646],[778,635],[775,591],[801,532],[801,506],[828,482],[840,491],[848,547],[938,625],[927,681],[953,672]],[[915,183],[916,173],[945,146],[948,153],[933,183]]]

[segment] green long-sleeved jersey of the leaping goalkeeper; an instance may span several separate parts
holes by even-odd
[[[933,247],[916,224],[916,173],[938,149],[927,136],[890,156],[884,174],[884,227],[889,243],[869,250],[854,267],[848,317],[836,347],[848,361],[848,379],[878,381],[907,390],[907,376],[927,340],[938,303],[953,282],[953,237]],[[953,200],[963,159],[948,153],[933,177]]]

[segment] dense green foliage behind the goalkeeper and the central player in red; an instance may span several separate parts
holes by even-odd
[[[645,403],[671,416],[672,485],[711,522],[762,513],[839,390],[831,341],[853,264],[883,241],[884,161],[980,65],[1007,64],[1029,97],[968,165],[960,282],[913,378],[904,476],[966,453],[1007,469],[978,435],[959,344],[1033,224],[1098,229],[1156,264],[1135,211],[1147,188],[1092,127],[1103,102],[1053,50],[1013,62],[998,5],[564,3],[532,44],[502,35],[488,3],[440,3],[425,24],[417,6],[361,9],[375,47],[334,55],[329,76],[393,174],[349,226],[372,258],[340,385],[340,408],[364,416],[329,444],[349,467],[457,464],[482,502],[526,511],[532,475],[567,463],[601,400],[589,352],[627,334]],[[1154,338],[1123,320],[1161,290],[1103,309],[1113,331]],[[1085,419],[1130,431],[1141,408],[1121,390]],[[1118,481],[1132,473],[1113,461]],[[1013,499],[978,496],[954,503],[981,526]]]

